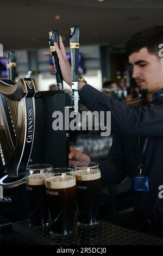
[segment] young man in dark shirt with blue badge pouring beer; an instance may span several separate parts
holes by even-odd
[[[61,37],[59,41],[60,49],[54,45],[62,75],[71,85],[71,68]],[[162,42],[163,26],[146,28],[127,42],[133,78],[142,92],[141,99],[129,105],[79,82],[80,100],[87,108],[111,111],[114,136],[108,159],[99,162],[102,179],[118,183],[129,175],[133,181],[136,225],[147,223],[155,231],[163,222],[163,58],[159,56]],[[91,161],[90,156],[73,148],[69,158],[71,164]]]

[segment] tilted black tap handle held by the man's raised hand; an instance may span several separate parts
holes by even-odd
[[[55,51],[54,42],[57,42],[57,44],[59,45],[58,32],[55,30],[52,30],[49,32],[49,46],[52,53],[54,72],[57,80],[57,89],[63,90],[63,78],[62,78],[62,73],[59,65],[57,52]]]

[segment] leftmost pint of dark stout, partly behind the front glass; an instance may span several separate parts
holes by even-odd
[[[45,176],[46,174],[37,173],[26,177],[30,205],[30,225],[46,225],[48,223]]]

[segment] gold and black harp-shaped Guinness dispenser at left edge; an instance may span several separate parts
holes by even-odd
[[[33,146],[36,83],[29,78],[0,81],[0,215],[10,221],[27,217],[25,170]]]

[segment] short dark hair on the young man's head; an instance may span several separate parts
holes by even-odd
[[[155,25],[137,32],[126,42],[126,54],[139,52],[141,48],[147,47],[148,52],[159,57],[159,44],[163,43],[163,26]]]

